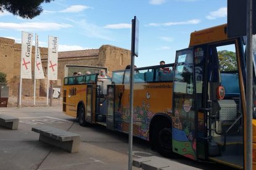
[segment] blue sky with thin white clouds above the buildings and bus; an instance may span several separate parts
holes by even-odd
[[[173,63],[176,51],[189,46],[190,33],[227,22],[226,0],[55,0],[43,12],[24,19],[0,12],[0,37],[20,43],[22,31],[59,38],[59,51],[131,47],[132,19],[139,20],[137,67]]]

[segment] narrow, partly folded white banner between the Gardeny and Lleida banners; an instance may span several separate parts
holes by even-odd
[[[43,67],[41,63],[38,35],[35,38],[35,79],[44,79]]]

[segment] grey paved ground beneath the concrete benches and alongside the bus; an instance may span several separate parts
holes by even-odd
[[[20,118],[19,129],[0,126],[0,169],[127,169],[128,136],[105,127],[81,127],[62,113],[61,107],[0,108],[0,113]],[[38,141],[36,126],[52,126],[80,134],[79,153],[67,153]],[[134,138],[134,158],[160,156],[148,142]],[[173,161],[192,169],[231,169],[216,163],[203,163],[176,156]],[[135,168],[133,169],[140,169]]]

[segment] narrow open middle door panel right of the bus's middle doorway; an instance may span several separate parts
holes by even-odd
[[[107,92],[107,119],[106,119],[106,127],[114,131],[114,94],[115,94],[115,85],[108,85]]]

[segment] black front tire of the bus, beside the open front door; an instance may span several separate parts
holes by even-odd
[[[153,138],[155,139],[154,145],[161,155],[165,157],[171,157],[173,155],[171,124],[167,121],[156,123]]]

